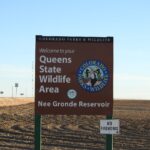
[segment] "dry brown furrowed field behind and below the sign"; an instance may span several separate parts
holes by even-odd
[[[17,105],[18,104],[18,105]],[[150,150],[150,101],[115,100],[114,150]],[[104,150],[104,116],[42,116],[42,150]],[[0,150],[34,150],[33,99],[0,99]]]

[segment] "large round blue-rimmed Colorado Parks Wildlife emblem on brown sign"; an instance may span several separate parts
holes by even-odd
[[[107,67],[99,60],[85,61],[77,71],[80,86],[88,92],[99,92],[108,83]]]

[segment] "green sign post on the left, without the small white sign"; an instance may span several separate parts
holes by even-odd
[[[41,150],[41,115],[35,114],[35,150]]]

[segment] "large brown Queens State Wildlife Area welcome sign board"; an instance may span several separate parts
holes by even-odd
[[[109,115],[113,37],[36,36],[35,113]]]

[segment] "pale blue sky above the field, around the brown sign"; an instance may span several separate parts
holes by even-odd
[[[149,7],[149,0],[1,0],[0,97],[34,96],[35,35],[113,36],[114,98],[150,100]]]

